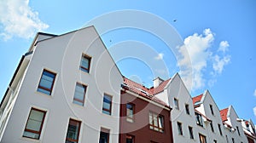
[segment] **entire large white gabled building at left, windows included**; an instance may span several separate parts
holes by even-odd
[[[119,141],[123,78],[93,26],[38,33],[1,102],[1,142]]]

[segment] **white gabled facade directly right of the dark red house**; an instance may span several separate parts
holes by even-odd
[[[181,77],[178,74],[174,75],[166,88],[155,96],[172,106],[171,121],[174,142],[199,142],[193,101]],[[175,106],[174,99],[177,99],[178,107]],[[189,114],[186,112],[185,105],[189,106]],[[182,123],[183,134],[178,133],[177,122]],[[189,127],[193,130],[194,139],[190,139]]]

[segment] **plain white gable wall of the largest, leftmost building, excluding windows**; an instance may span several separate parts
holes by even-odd
[[[79,70],[82,53],[92,57],[89,74]],[[52,95],[37,92],[44,68],[57,74]],[[31,139],[22,137],[22,134],[30,109],[35,107],[47,111],[39,141],[65,142],[71,117],[82,121],[79,142],[97,142],[102,127],[110,129],[109,142],[117,143],[122,80],[119,70],[93,27],[39,42],[2,141],[31,142]],[[87,85],[84,106],[73,104],[77,82]],[[102,113],[104,93],[113,96],[112,116]]]

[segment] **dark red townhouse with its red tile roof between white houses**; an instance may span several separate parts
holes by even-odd
[[[119,143],[172,143],[171,107],[152,91],[124,77],[120,101]]]

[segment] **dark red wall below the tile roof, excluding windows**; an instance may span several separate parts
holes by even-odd
[[[162,105],[162,107],[156,106],[155,104],[159,103],[149,103],[142,96],[136,97],[135,95],[121,94],[119,143],[126,143],[126,138],[132,138],[133,142],[141,143],[172,143],[171,109],[168,107],[164,109]],[[126,120],[126,103],[134,106],[133,123]],[[163,133],[149,129],[149,112],[163,117]]]

